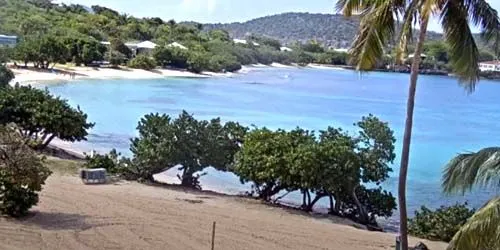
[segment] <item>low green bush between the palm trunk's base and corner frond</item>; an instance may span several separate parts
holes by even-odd
[[[449,242],[474,212],[467,203],[441,206],[435,211],[422,206],[420,211],[415,211],[415,217],[408,220],[408,230],[420,238]]]

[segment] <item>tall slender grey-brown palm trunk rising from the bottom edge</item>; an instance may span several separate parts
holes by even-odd
[[[408,175],[408,163],[410,159],[411,132],[413,128],[413,110],[415,108],[415,93],[417,89],[418,73],[422,54],[427,24],[429,18],[420,20],[420,36],[413,55],[411,66],[410,87],[408,90],[408,101],[406,104],[406,123],[403,137],[403,151],[401,153],[401,166],[399,169],[399,234],[401,237],[401,250],[408,250],[408,213],[406,211],[406,177]]]

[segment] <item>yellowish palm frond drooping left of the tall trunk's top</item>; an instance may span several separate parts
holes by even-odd
[[[377,1],[366,9],[350,50],[357,70],[373,69],[383,56],[385,44],[394,35],[396,13],[393,1]]]

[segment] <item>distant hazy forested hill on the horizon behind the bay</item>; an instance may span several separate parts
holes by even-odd
[[[284,44],[315,39],[326,46],[347,48],[358,31],[359,18],[342,15],[284,13],[253,19],[244,23],[205,24],[206,30],[224,29],[234,38],[248,35],[265,35]],[[430,40],[438,40],[441,34],[430,32]]]

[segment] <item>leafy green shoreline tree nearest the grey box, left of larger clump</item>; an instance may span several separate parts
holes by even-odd
[[[129,167],[136,178],[152,180],[154,174],[177,167],[182,185],[199,188],[197,172],[208,166],[227,170],[247,129],[233,122],[222,125],[219,118],[196,120],[183,111],[176,119],[146,115],[137,130]]]

